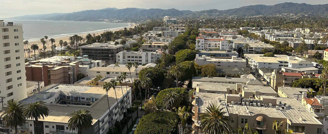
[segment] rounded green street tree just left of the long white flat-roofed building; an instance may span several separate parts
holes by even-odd
[[[175,54],[176,63],[181,63],[184,61],[194,61],[196,57],[196,50],[184,49],[176,52]]]

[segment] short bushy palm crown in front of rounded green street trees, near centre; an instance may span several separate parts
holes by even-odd
[[[166,105],[166,108],[172,111],[173,107],[180,104],[181,99],[178,93],[174,90],[170,90],[167,94],[165,94],[163,102]]]

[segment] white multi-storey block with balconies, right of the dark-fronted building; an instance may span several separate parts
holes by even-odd
[[[159,52],[159,53],[158,53]],[[133,51],[121,51],[116,54],[116,63],[127,64],[128,62],[134,63],[135,61],[142,64],[156,63],[161,58],[162,51],[157,52],[144,52],[142,50]]]

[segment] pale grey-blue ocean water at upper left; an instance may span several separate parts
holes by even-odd
[[[6,22],[22,23],[24,40],[40,40],[44,36],[58,38],[74,34],[100,32],[104,30],[128,27],[129,23],[85,22],[85,21],[49,21],[49,20],[10,20]]]

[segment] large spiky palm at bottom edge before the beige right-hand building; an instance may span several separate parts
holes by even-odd
[[[234,122],[234,119],[225,116],[227,112],[222,111],[224,108],[219,108],[215,104],[207,106],[205,114],[199,115],[201,131],[207,134],[231,134],[233,129],[230,123]]]

